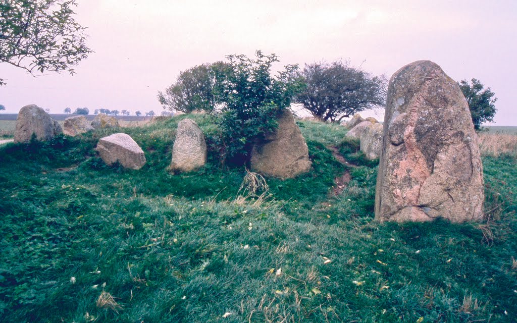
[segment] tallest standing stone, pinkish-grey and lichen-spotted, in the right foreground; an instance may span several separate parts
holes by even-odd
[[[452,222],[483,217],[477,135],[458,84],[416,61],[389,82],[375,218]]]

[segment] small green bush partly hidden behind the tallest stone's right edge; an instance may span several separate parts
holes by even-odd
[[[466,80],[460,81],[461,91],[467,99],[468,108],[472,115],[472,122],[476,130],[481,129],[483,122],[493,122],[495,113],[495,93],[490,90],[490,87],[484,88],[484,85],[477,79],[472,79],[469,84]]]

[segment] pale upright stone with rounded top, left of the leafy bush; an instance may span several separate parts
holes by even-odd
[[[192,119],[179,121],[172,149],[171,170],[190,172],[206,163],[203,131]]]

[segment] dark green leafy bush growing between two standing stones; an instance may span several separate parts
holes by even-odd
[[[261,51],[255,55],[255,59],[226,56],[226,68],[214,70],[221,154],[226,161],[237,164],[249,161],[253,143],[278,127],[278,115],[291,105],[301,86],[290,77],[298,66],[285,66],[275,77],[271,66],[278,56]]]

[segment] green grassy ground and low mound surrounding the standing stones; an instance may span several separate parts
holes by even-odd
[[[207,164],[174,174],[186,117],[205,133]],[[209,115],[1,146],[0,321],[517,317],[515,150],[485,141],[488,222],[380,224],[377,162],[343,127],[299,125],[311,171],[255,187],[241,186],[244,167],[221,164]],[[145,152],[139,171],[96,156],[120,131]]]

